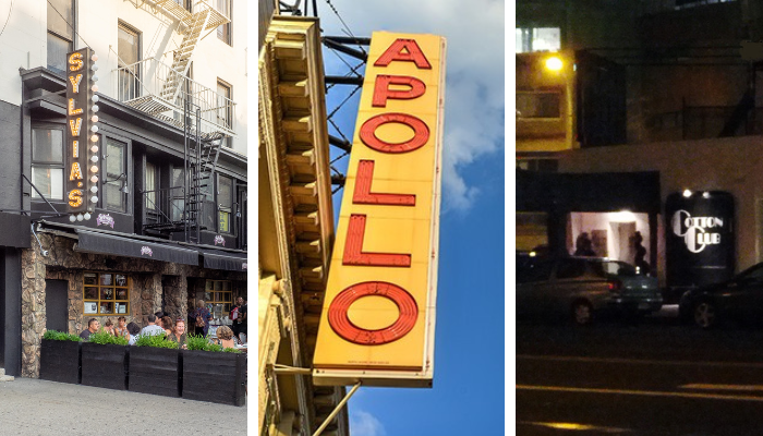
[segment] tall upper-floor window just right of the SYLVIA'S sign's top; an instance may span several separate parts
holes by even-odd
[[[117,89],[119,100],[129,101],[141,96],[141,35],[122,23],[117,33]]]

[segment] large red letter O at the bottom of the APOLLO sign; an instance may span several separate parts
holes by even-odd
[[[359,299],[367,295],[385,296],[397,304],[400,316],[391,326],[366,330],[352,324],[348,310]],[[419,306],[413,296],[399,286],[386,281],[365,281],[341,291],[328,306],[328,324],[343,339],[361,346],[380,346],[408,335],[416,324]]]

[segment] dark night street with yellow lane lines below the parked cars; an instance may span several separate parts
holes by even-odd
[[[517,434],[763,434],[763,330],[704,331],[662,315],[520,323]]]

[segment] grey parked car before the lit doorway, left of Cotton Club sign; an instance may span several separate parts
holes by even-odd
[[[517,316],[569,316],[591,324],[604,313],[644,315],[659,311],[657,279],[634,266],[601,257],[562,257],[517,271]]]

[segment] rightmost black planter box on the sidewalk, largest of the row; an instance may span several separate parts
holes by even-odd
[[[246,354],[187,351],[182,354],[183,398],[244,405]]]

